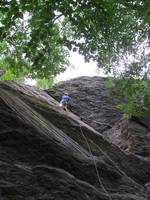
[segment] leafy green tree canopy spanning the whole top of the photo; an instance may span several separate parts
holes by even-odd
[[[65,70],[67,47],[86,61],[93,59],[107,73],[145,80],[149,76],[149,8],[149,0],[2,0],[3,54],[17,62],[25,59],[30,76],[48,78]],[[138,56],[142,46],[145,54]],[[134,62],[126,62],[120,73],[118,66],[129,55]]]

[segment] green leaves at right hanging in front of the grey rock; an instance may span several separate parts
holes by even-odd
[[[109,88],[119,88],[124,102],[118,103],[129,117],[149,116],[150,114],[150,80],[147,79],[108,79]],[[117,98],[117,97],[116,97]]]

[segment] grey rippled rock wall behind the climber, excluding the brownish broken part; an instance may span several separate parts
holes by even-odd
[[[110,129],[120,118],[122,113],[116,109],[116,103],[122,99],[119,92],[113,98],[108,91],[105,79],[101,77],[79,77],[62,82],[49,91],[55,99],[60,101],[64,91],[72,97],[71,110],[82,118],[84,122],[102,133]]]

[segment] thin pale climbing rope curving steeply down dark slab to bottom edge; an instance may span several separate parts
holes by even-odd
[[[96,175],[97,175],[97,178],[98,178],[98,182],[99,182],[101,188],[103,189],[104,193],[107,194],[109,200],[113,200],[112,197],[110,196],[110,194],[108,193],[108,191],[106,190],[106,188],[104,187],[104,184],[103,184],[103,182],[102,182],[102,180],[101,180],[101,178],[100,178],[100,174],[99,174],[99,172],[98,172],[98,168],[97,168],[97,164],[96,164],[95,158],[94,158],[94,156],[93,156],[93,154],[92,154],[92,150],[91,150],[91,147],[90,147],[90,145],[89,145],[89,142],[88,142],[86,136],[85,136],[84,133],[83,133],[81,124],[80,124],[79,126],[80,126],[80,132],[81,132],[81,134],[82,134],[82,137],[84,138],[84,140],[85,140],[85,142],[86,142],[86,144],[87,144],[89,153],[91,154],[91,157],[92,157],[92,159],[93,159],[93,163],[94,163]]]

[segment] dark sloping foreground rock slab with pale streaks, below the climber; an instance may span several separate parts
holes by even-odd
[[[150,162],[45,92],[0,82],[0,113],[0,199],[150,200]]]

